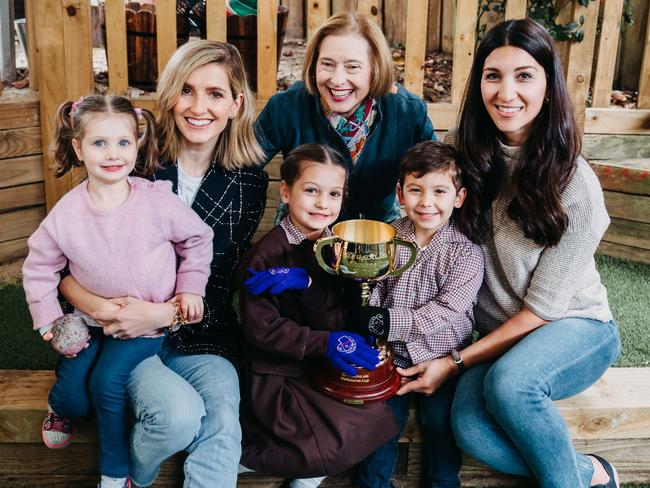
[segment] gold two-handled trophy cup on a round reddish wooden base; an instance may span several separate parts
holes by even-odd
[[[371,284],[387,276],[397,276],[415,261],[415,243],[396,237],[397,231],[389,224],[376,220],[346,220],[332,228],[332,236],[319,239],[314,245],[318,264],[330,274],[342,276],[361,284],[361,306],[368,306]],[[398,246],[411,251],[408,261],[395,267]],[[331,248],[332,262],[323,257],[323,250]],[[344,403],[385,400],[395,394],[401,377],[393,364],[393,352],[387,342],[377,340],[380,363],[373,371],[356,367],[356,376],[347,374],[327,363],[316,372],[314,383],[322,392]]]

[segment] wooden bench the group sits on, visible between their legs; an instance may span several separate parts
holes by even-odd
[[[51,371],[0,371],[0,486],[91,487],[97,482],[94,426],[77,423],[73,444],[62,451],[41,442],[40,425],[54,375]],[[650,482],[650,368],[613,368],[582,394],[558,402],[576,447],[616,464],[622,481]],[[422,444],[413,416],[400,444],[398,486],[417,486]],[[182,455],[167,461],[156,487],[182,485]],[[471,459],[461,471],[463,486],[530,486],[529,480],[494,473]],[[279,478],[240,477],[239,486],[271,488]],[[216,487],[217,485],[215,485]],[[323,486],[355,486],[347,475]]]

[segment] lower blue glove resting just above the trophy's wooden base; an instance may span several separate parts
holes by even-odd
[[[335,368],[348,376],[356,376],[353,365],[373,370],[379,364],[379,351],[373,349],[363,337],[354,332],[330,332],[327,357]]]

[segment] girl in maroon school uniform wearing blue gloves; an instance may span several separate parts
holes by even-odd
[[[248,341],[240,469],[293,478],[292,488],[318,486],[397,433],[383,402],[346,405],[311,386],[326,358],[351,375],[352,364],[374,369],[379,362],[376,349],[345,331],[343,280],[323,271],[314,254],[314,241],[331,235],[328,225],[339,216],[345,168],[326,146],[291,151],[280,186],[289,215],[242,261],[252,277],[240,289]],[[276,277],[282,290],[271,285]]]

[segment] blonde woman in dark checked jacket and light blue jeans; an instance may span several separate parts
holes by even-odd
[[[239,52],[215,41],[180,47],[160,76],[158,94],[163,168],[154,178],[170,180],[179,198],[214,231],[204,316],[188,323],[169,303],[105,300],[71,277],[63,280],[61,291],[102,321],[104,334],[128,339],[169,331],[160,353],[140,363],[128,383],[136,417],[135,483],[151,485],[161,463],[185,450],[185,487],[217,482],[235,487],[241,453],[234,366],[240,327],[232,308],[232,279],[262,217],[268,185],[253,135],[255,107]]]

